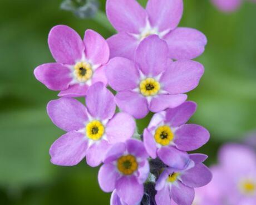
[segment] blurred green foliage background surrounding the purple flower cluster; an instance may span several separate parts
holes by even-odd
[[[145,5],[146,1],[140,1]],[[104,17],[105,1],[95,19],[79,19],[60,9],[61,0],[0,0],[0,204],[109,204],[110,194],[97,184],[98,168],[83,161],[76,167],[50,163],[48,149],[63,134],[46,114],[57,93],[33,76],[51,62],[49,30],[66,24],[83,35],[94,29],[105,38],[114,29]],[[216,160],[218,147],[242,141],[256,128],[256,4],[244,3],[232,14],[217,11],[208,0],[184,0],[180,26],[208,37],[200,85],[189,93],[198,103],[191,122],[205,126],[210,142],[199,151]],[[138,121],[141,131],[148,123]]]

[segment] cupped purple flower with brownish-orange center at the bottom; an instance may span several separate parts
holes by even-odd
[[[107,151],[104,165],[99,171],[98,180],[102,190],[112,192],[116,189],[123,204],[139,203],[144,194],[143,183],[149,175],[147,157],[144,145],[139,140],[130,139],[113,145]]]

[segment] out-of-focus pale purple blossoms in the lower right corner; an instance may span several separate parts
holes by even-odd
[[[254,205],[256,202],[256,152],[237,143],[219,151],[219,163],[211,167],[213,180],[196,189],[195,204]]]

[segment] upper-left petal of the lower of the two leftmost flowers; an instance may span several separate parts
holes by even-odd
[[[88,120],[86,107],[72,98],[60,98],[48,102],[47,113],[52,122],[65,131],[80,130]]]

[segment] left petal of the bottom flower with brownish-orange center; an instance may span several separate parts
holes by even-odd
[[[115,183],[119,176],[115,165],[112,165],[111,163],[102,165],[98,175],[100,188],[104,192],[112,192],[115,189]]]

